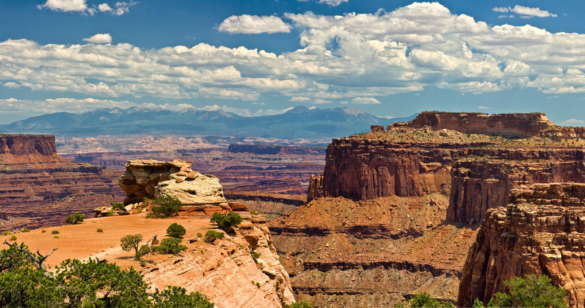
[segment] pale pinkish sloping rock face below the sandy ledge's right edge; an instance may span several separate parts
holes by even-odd
[[[226,235],[229,240],[208,244],[195,238],[188,245],[190,252],[180,259],[159,262],[145,279],[159,288],[180,285],[204,293],[218,308],[280,308],[294,302],[290,278],[280,264],[266,220],[252,216],[241,203],[230,203],[232,209],[244,220],[235,234]],[[180,216],[196,219],[190,217],[192,213],[200,215],[181,212]],[[209,217],[199,219],[208,222]],[[254,260],[253,252],[260,257]]]

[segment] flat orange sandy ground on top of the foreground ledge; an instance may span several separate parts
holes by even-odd
[[[187,229],[187,234],[183,236],[183,242],[190,238],[195,238],[197,233],[205,234],[207,230],[214,229],[214,225],[209,223],[209,217],[203,215],[189,215],[181,213],[180,216],[167,219],[147,219],[146,213],[131,214],[126,216],[111,216],[85,219],[83,223],[60,226],[46,227],[35,229],[28,233],[13,234],[18,239],[17,243],[24,242],[29,246],[30,251],[37,249],[42,255],[51,252],[51,249],[57,248],[53,254],[47,258],[45,264],[51,268],[58,265],[67,258],[87,259],[88,257],[98,257],[107,259],[108,262],[115,262],[123,268],[133,266],[141,268],[138,261],[133,260],[134,251],[123,251],[120,247],[120,239],[128,234],[142,234],[146,243],[150,237],[158,234],[158,239],[166,237],[167,227],[171,223],[178,223]],[[98,232],[97,229],[104,230]],[[47,230],[45,233],[42,230]],[[51,231],[59,230],[59,234],[51,234]],[[59,238],[53,238],[55,235]],[[0,236],[1,245],[4,240],[11,237]],[[10,241],[13,243],[13,241]],[[187,244],[184,243],[184,244]],[[147,262],[159,261],[159,259],[170,258],[171,255],[147,255],[144,257]]]

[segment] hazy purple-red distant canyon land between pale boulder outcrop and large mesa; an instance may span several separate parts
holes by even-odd
[[[63,157],[117,170],[124,170],[130,160],[169,161],[180,158],[193,162],[192,168],[198,172],[214,174],[221,179],[226,191],[262,191],[285,195],[304,195],[311,175],[319,174],[325,164],[324,147],[222,143],[225,141],[212,146],[201,139],[169,140],[165,137],[158,141],[145,139],[144,142],[152,144],[135,150],[111,150],[121,142],[102,141],[102,146],[111,148],[102,148],[101,151],[77,149],[80,150],[78,153],[63,154]],[[159,142],[169,145],[164,150],[157,149]],[[67,149],[75,152],[73,148]]]

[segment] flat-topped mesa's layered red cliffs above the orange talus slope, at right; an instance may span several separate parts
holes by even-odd
[[[578,136],[581,130],[555,126],[542,113],[423,112],[387,131],[333,139],[324,172],[309,179],[307,198],[442,193],[450,196],[449,221],[480,223],[487,209],[505,206],[519,185],[585,181],[582,141],[538,137],[552,131]],[[486,135],[495,133],[536,137]]]

